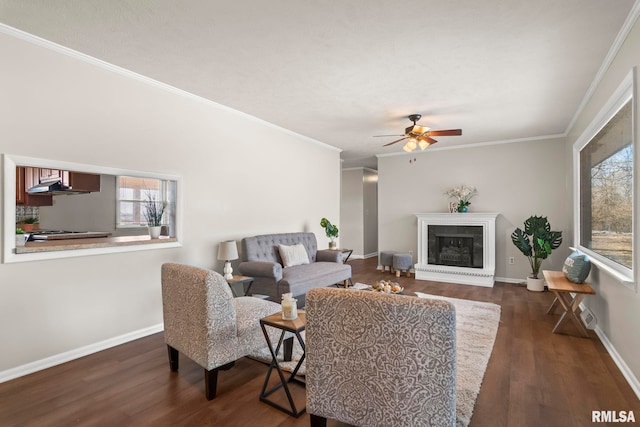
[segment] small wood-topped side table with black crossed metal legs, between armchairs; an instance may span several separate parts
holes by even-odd
[[[300,333],[304,331],[306,324],[307,324],[307,318],[304,310],[298,310],[298,318],[295,320],[283,320],[282,313],[280,312],[260,319],[260,327],[262,328],[264,339],[267,341],[267,345],[269,346],[269,352],[271,353],[271,364],[269,365],[269,370],[267,371],[267,376],[264,380],[264,385],[262,386],[262,390],[260,391],[260,401],[265,402],[273,406],[274,408],[280,409],[281,411],[284,411],[287,414],[292,415],[296,418],[302,415],[306,411],[306,407],[303,407],[300,410],[296,409],[296,404],[293,401],[293,397],[291,396],[291,391],[289,390],[289,384],[297,383],[297,384],[305,385],[305,382],[296,378],[296,375],[298,374],[298,370],[300,369],[300,366],[302,365],[302,362],[306,357],[304,340],[300,335]],[[280,329],[281,331],[280,339],[278,340],[278,345],[276,346],[275,349],[273,348],[273,344],[269,339],[269,334],[267,333],[266,327]],[[298,343],[302,347],[302,356],[300,357],[300,361],[296,364],[296,367],[293,369],[293,372],[291,373],[289,378],[285,378],[284,373],[280,368],[280,364],[278,363],[278,352],[280,351],[280,347],[282,346],[282,342],[284,341],[286,332],[293,333],[298,339]],[[278,371],[278,375],[280,377],[280,384],[276,384],[270,390],[267,390],[269,378],[271,377],[271,372],[273,372],[274,369]],[[284,406],[281,406],[267,399],[267,397],[270,394],[272,394],[273,392],[281,388],[284,388],[284,391],[287,394],[287,399],[289,401],[289,406],[291,407],[291,409],[285,408]]]

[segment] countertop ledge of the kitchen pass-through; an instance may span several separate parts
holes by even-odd
[[[16,248],[16,254],[30,254],[36,252],[68,251],[74,249],[108,248],[114,246],[150,245],[176,242],[175,237],[161,236],[151,239],[145,236],[94,237],[88,239],[42,240],[26,242],[24,246]]]

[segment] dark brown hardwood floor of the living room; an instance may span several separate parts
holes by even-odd
[[[376,270],[375,258],[350,263],[354,282],[393,277]],[[546,314],[549,292],[397,281],[408,291],[502,307],[472,427],[585,426],[592,410],[633,410],[640,418],[640,401],[593,331],[591,339],[551,332],[559,314]],[[0,384],[0,425],[308,426],[308,414],[295,419],[258,400],[266,370],[239,360],[220,373],[218,397],[207,401],[202,368],[181,357],[180,372],[170,372],[162,334],[155,334]],[[304,401],[303,389],[295,395]]]

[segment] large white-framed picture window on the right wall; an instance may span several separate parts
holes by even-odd
[[[631,77],[631,76],[630,76]],[[632,79],[576,142],[578,247],[628,285],[634,283]]]

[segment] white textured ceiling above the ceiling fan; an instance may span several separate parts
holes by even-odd
[[[343,150],[563,134],[633,0],[0,0],[0,23]]]

